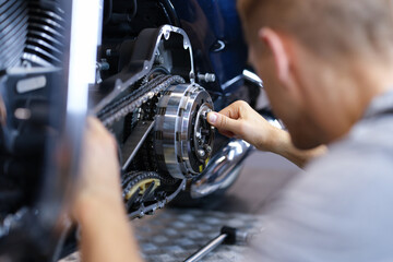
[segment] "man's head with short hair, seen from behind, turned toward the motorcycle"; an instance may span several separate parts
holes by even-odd
[[[392,66],[391,4],[392,0],[238,1],[250,61],[298,147],[343,135],[348,121],[353,124],[362,114],[349,104],[365,107],[372,98],[366,95],[378,93],[358,97],[355,85],[371,82],[364,74],[367,66],[373,74],[377,68]],[[336,116],[336,107],[346,119]]]

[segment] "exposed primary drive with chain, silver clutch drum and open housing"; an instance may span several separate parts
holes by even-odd
[[[98,118],[120,145],[130,216],[140,216],[164,206],[205,169],[213,153],[214,129],[206,121],[213,100],[195,83],[192,49],[182,29],[144,29],[131,43],[116,51],[120,72],[104,80],[92,97]],[[127,62],[124,46],[133,53]]]

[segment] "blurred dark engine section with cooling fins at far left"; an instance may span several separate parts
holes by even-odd
[[[50,115],[60,117],[50,100],[63,94],[53,84],[63,60],[62,15],[57,1],[0,1],[0,218],[31,205],[43,183],[45,147],[58,132]]]

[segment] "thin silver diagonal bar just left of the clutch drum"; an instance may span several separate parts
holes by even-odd
[[[126,171],[131,160],[135,157],[138,151],[141,148],[143,142],[146,140],[150,131],[152,131],[155,121],[142,121],[136,124],[131,135],[126,141],[121,148],[121,155],[123,157],[122,170]]]

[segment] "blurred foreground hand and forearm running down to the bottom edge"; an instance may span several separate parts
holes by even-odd
[[[84,262],[141,262],[121,200],[115,139],[94,118],[87,119],[81,174],[72,206],[82,229]]]

